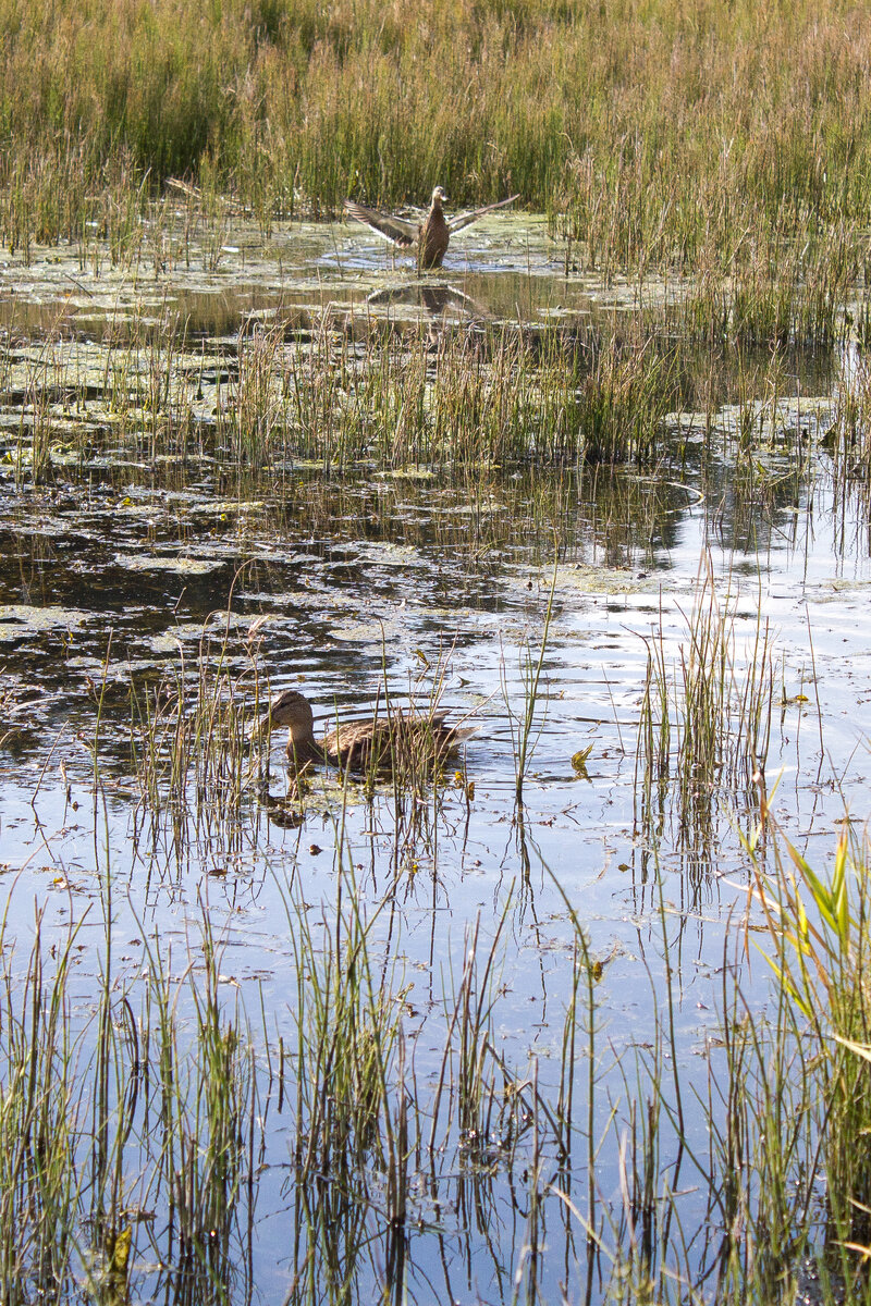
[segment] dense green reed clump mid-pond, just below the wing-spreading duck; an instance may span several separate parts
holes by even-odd
[[[426,337],[409,351],[345,338],[291,359],[283,434],[290,452],[328,466],[373,460],[481,469],[501,464],[654,462],[661,423],[679,405],[674,353],[610,338],[578,351],[571,338],[528,342]]]

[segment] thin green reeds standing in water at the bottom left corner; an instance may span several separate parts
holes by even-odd
[[[149,955],[150,978],[133,994],[116,981],[107,935],[101,994],[82,1011],[77,931],[50,944],[43,930],[38,913],[24,968],[12,953],[3,968],[0,1260],[8,1299],[44,1290],[63,1301],[76,1284],[125,1297],[131,1243],[141,1246],[144,1235],[151,1243],[151,1202],[168,1215],[157,1235],[167,1264],[212,1301],[212,1276],[221,1269],[232,1281],[243,1264],[239,1175],[243,1164],[251,1168],[245,1148],[256,1124],[248,1038],[239,1012],[218,999],[208,923],[205,987],[193,990],[196,1032],[184,1047],[180,994],[158,953]],[[8,918],[3,934],[5,940]]]

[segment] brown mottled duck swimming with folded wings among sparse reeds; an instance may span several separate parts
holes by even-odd
[[[445,725],[445,712],[427,717],[405,716],[400,710],[371,718],[338,724],[321,741],[315,739],[315,716],[308,699],[298,690],[282,690],[262,718],[269,730],[287,726],[287,756],[296,769],[329,763],[353,771],[375,767],[389,769],[401,759],[415,756],[431,763],[447,756],[474,729]]]

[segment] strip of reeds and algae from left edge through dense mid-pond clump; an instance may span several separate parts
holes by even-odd
[[[424,333],[379,326],[354,342],[332,315],[303,349],[277,324],[205,351],[167,315],[159,332],[110,332],[84,358],[59,336],[38,360],[17,360],[14,465],[22,483],[44,481],[52,458],[63,466],[110,443],[158,464],[206,454],[243,478],[286,475],[294,458],[475,478],[507,464],[650,466],[669,454],[662,422],[682,404],[679,360],[673,341],[645,332],[595,341],[499,328],[447,333],[434,349]]]

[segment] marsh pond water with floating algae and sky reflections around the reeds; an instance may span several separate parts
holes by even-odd
[[[606,1292],[609,1230],[628,1218],[622,1140],[636,1136],[637,1066],[648,1053],[670,1075],[675,1055],[704,1097],[717,1079],[725,976],[753,1010],[769,994],[744,929],[753,906],[742,836],[757,819],[760,773],[723,761],[721,781],[692,801],[667,765],[644,784],[652,658],[676,721],[700,614],[725,623],[736,693],[767,678],[763,771],[790,840],[824,868],[845,815],[866,816],[868,504],[863,481],[838,477],[825,445],[862,367],[849,340],[785,354],[774,400],[764,351],[755,371],[721,358],[704,381],[706,410],[688,400],[670,418],[680,453],[662,468],[528,458],[473,475],[375,457],[338,466],[286,448],[242,466],[221,447],[215,414],[238,402],[239,357],[257,332],[279,330],[286,376],[324,333],[367,357],[424,340],[435,358],[445,338],[512,328],[588,347],[629,332],[641,312],[663,313],[667,330],[684,289],[603,285],[572,270],[543,223],[505,215],[458,238],[445,263],[443,276],[418,279],[362,230],[295,223],[264,238],[236,218],[217,234],[145,239],[132,265],[112,265],[97,238],[84,252],[0,263],[9,982],[26,972],[37,919],[47,953],[73,931],[71,1012],[89,1029],[108,918],[112,985],[133,1002],[159,955],[193,1028],[189,985],[208,922],[221,1000],[244,1010],[260,1076],[255,1173],[234,1204],[214,1299],[291,1299],[311,1256],[293,1216],[293,1075],[279,1094],[274,1058],[294,1027],[299,921],[326,955],[349,895],[367,922],[372,974],[401,995],[402,1083],[427,1121],[420,1136],[447,1110],[432,1102],[473,944],[482,1046],[504,1070],[505,1101],[511,1085],[533,1105],[528,1135],[511,1144],[495,1119],[477,1148],[448,1121],[437,1155],[418,1149],[401,1273],[373,1166],[366,1254],[342,1299],[404,1299],[400,1282],[417,1301],[512,1301],[530,1266],[541,1299]],[[696,366],[709,377],[705,351]],[[703,388],[688,379],[689,396]],[[157,432],[158,407],[174,405],[187,424]],[[34,477],[39,438],[47,452]],[[248,696],[252,718],[295,687],[324,725],[385,695],[401,705],[437,695],[477,730],[414,798],[389,778],[328,772],[299,794],[276,735],[268,795],[260,776],[232,810],[210,806],[195,777],[184,802],[178,790],[159,802],[141,774],[149,748],[168,744],[149,742],[149,721],[170,693],[184,714],[218,675]],[[564,1076],[578,931],[594,974],[595,1138],[612,1139],[594,1166],[598,1251],[585,1225],[590,1153],[567,1157],[533,1127],[534,1104],[555,1101]],[[662,1059],[666,1011],[674,1042]],[[573,1055],[586,1083],[586,1036]],[[588,1097],[578,1088],[578,1115]],[[686,1111],[705,1153],[701,1113],[693,1123]],[[675,1164],[669,1136],[662,1168]],[[133,1297],[187,1299],[178,1284],[189,1267],[172,1263],[167,1211],[138,1164],[124,1181],[127,1208],[140,1212]],[[682,1164],[671,1187],[703,1284],[716,1218],[700,1170]]]

